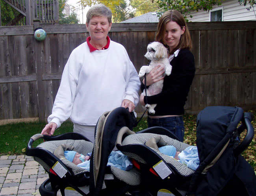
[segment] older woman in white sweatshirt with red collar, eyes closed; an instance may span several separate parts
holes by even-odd
[[[52,114],[41,133],[54,134],[70,117],[73,131],[93,142],[101,114],[120,106],[134,110],[139,102],[140,81],[125,48],[108,37],[112,25],[110,9],[94,5],[86,17],[90,36],[70,54]]]

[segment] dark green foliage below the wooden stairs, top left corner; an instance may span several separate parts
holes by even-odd
[[[13,20],[16,16],[19,15],[19,12],[10,5],[8,5],[3,0],[0,0],[0,5],[2,26],[6,26],[9,22],[11,22],[11,20]]]

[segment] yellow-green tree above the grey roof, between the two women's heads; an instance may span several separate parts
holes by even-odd
[[[155,12],[160,9],[156,0],[130,0],[130,5],[135,10],[135,16]]]

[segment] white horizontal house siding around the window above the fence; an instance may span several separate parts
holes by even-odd
[[[256,11],[253,9],[247,10],[250,7],[249,4],[246,6],[240,5],[238,0],[226,0],[221,5],[213,6],[213,9],[223,7],[223,21],[245,21],[245,20],[256,20]],[[190,18],[190,15],[193,18]],[[198,11],[187,15],[189,22],[209,22],[209,11]]]

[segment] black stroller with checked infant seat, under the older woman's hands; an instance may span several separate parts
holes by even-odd
[[[124,195],[130,187],[137,187],[140,184],[140,173],[136,168],[123,171],[113,166],[106,167],[119,129],[123,126],[132,129],[132,122],[131,114],[124,108],[118,108],[100,116],[95,128],[95,143],[73,132],[58,136],[32,136],[26,155],[33,156],[49,175],[39,187],[40,194],[56,196],[60,190],[62,195],[119,196]],[[39,138],[46,142],[32,147],[33,142]],[[89,171],[56,157],[53,153],[62,144],[74,147],[81,154],[92,152]]]

